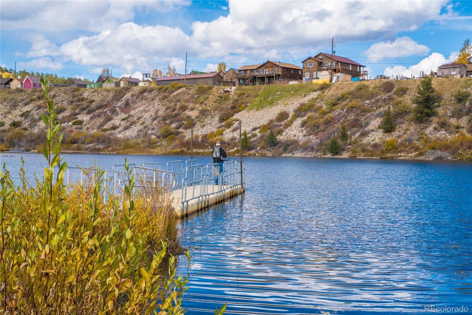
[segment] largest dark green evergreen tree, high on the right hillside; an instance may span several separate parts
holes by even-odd
[[[436,113],[434,104],[438,101],[438,97],[434,94],[435,91],[431,77],[421,79],[420,86],[416,87],[416,96],[412,103],[416,104],[413,113],[417,122],[424,122]]]

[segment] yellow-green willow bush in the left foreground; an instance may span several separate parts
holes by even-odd
[[[165,195],[134,193],[126,160],[128,184],[119,196],[104,198],[100,167],[86,173],[83,184],[67,186],[61,124],[48,81],[41,83],[48,106],[41,116],[47,127],[42,180],[29,184],[24,162],[21,185],[13,184],[5,164],[0,171],[1,313],[183,314],[188,280],[176,275],[176,257],[168,254],[166,241],[176,246],[177,232]]]

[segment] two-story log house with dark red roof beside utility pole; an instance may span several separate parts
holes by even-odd
[[[367,72],[362,64],[352,61],[349,58],[333,55],[330,53],[319,53],[314,57],[308,57],[302,61],[303,81],[320,79],[321,71],[331,71],[331,73],[346,73],[352,77],[353,81],[361,78],[367,79]]]

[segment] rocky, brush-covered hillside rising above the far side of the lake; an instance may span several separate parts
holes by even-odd
[[[52,91],[66,150],[185,153],[194,123],[196,151],[208,154],[218,139],[232,151],[239,147],[240,120],[250,144],[246,154],[333,156],[330,142],[336,138],[341,157],[472,159],[472,79],[433,79],[437,104],[425,122],[413,119],[419,84],[372,80]],[[2,90],[0,102],[3,147],[38,149],[44,137],[42,91]],[[396,128],[385,133],[379,125],[388,107]],[[269,131],[277,137],[274,146],[267,141]]]

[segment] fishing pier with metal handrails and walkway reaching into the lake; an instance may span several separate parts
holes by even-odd
[[[128,164],[135,176],[134,190],[165,189],[172,198],[172,206],[178,217],[183,217],[208,206],[244,193],[244,162],[228,160],[222,163],[198,163],[196,159],[176,160],[166,163]],[[110,195],[123,193],[129,185],[124,164],[111,169],[68,166],[65,184],[98,180],[102,173],[102,190],[105,200]]]

